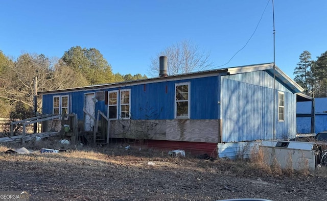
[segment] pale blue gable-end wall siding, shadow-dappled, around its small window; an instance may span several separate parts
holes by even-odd
[[[296,95],[275,84],[276,138],[295,137]],[[285,121],[278,119],[278,91],[285,93]],[[265,71],[224,76],[221,89],[223,142],[273,139],[273,78]]]

